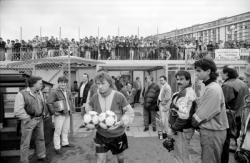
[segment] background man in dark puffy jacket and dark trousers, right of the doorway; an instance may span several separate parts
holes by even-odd
[[[158,111],[157,99],[160,93],[160,87],[153,83],[153,77],[146,77],[147,86],[143,90],[144,97],[144,108],[143,108],[143,117],[144,117],[144,131],[149,130],[149,118],[152,123],[153,131],[156,131],[156,112]]]

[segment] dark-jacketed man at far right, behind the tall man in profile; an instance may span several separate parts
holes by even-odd
[[[227,113],[233,114],[234,117],[228,116],[229,129],[227,130],[227,138],[224,143],[221,162],[227,163],[229,160],[230,138],[237,139],[240,134],[241,126],[241,109],[244,106],[244,97],[249,94],[247,85],[238,79],[238,73],[234,67],[224,66],[221,77],[224,80],[222,90],[225,97]],[[231,119],[230,119],[231,118]],[[233,134],[233,122],[236,122],[237,133]]]

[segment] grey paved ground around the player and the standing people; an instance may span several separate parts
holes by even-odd
[[[125,163],[175,163],[171,153],[162,146],[162,140],[159,140],[156,132],[152,128],[148,132],[143,132],[142,108],[135,107],[135,120],[127,131],[129,149],[125,152]],[[74,134],[70,141],[75,145],[73,148],[63,149],[63,155],[58,156],[54,153],[51,145],[48,157],[51,163],[95,163],[95,147],[93,143],[94,132],[80,129],[81,116],[79,113],[73,115]],[[190,150],[192,163],[200,163],[200,144],[199,133],[195,133],[191,141]],[[235,163],[233,155],[230,155],[230,163]],[[109,153],[107,163],[116,163],[115,157]],[[14,161],[9,161],[14,163]],[[34,157],[31,161],[36,162]]]

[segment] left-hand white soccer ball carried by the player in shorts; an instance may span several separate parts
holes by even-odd
[[[98,113],[95,111],[89,111],[83,116],[83,125],[86,128],[94,129],[98,123]]]

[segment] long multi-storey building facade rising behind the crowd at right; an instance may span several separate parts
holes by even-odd
[[[213,41],[250,41],[250,12],[224,17],[212,22],[176,29],[156,35],[158,39],[195,39],[204,43]]]

